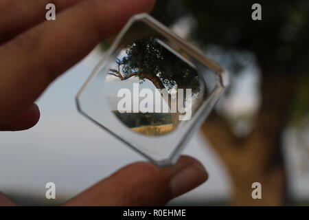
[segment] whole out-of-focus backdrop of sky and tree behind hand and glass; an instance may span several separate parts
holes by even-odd
[[[209,180],[169,205],[309,204],[309,2],[159,0],[152,15],[231,72],[231,87],[185,154]],[[98,46],[38,100],[41,120],[0,133],[0,190],[25,205],[70,199],[130,162],[143,160],[83,118],[74,97],[104,51]],[[56,199],[45,199],[45,184]],[[262,184],[262,199],[251,184]]]

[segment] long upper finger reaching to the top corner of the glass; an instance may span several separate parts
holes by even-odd
[[[58,14],[56,21],[46,21],[0,47],[0,121],[12,120],[54,78],[122,28],[130,16],[151,10],[153,4],[153,0],[82,1]]]

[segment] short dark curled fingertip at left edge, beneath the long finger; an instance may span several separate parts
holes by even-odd
[[[40,110],[36,104],[31,104],[20,115],[8,124],[0,123],[0,131],[23,131],[32,128],[40,119]]]

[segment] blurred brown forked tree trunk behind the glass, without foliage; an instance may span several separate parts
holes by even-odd
[[[293,84],[284,74],[262,74],[260,109],[247,137],[234,135],[229,124],[216,113],[202,126],[202,133],[229,170],[233,206],[286,204],[282,134],[293,100]],[[262,199],[251,197],[253,182],[262,184]]]

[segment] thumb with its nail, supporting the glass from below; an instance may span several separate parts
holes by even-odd
[[[174,166],[130,164],[66,203],[66,206],[161,206],[208,178],[196,159],[182,156]]]

